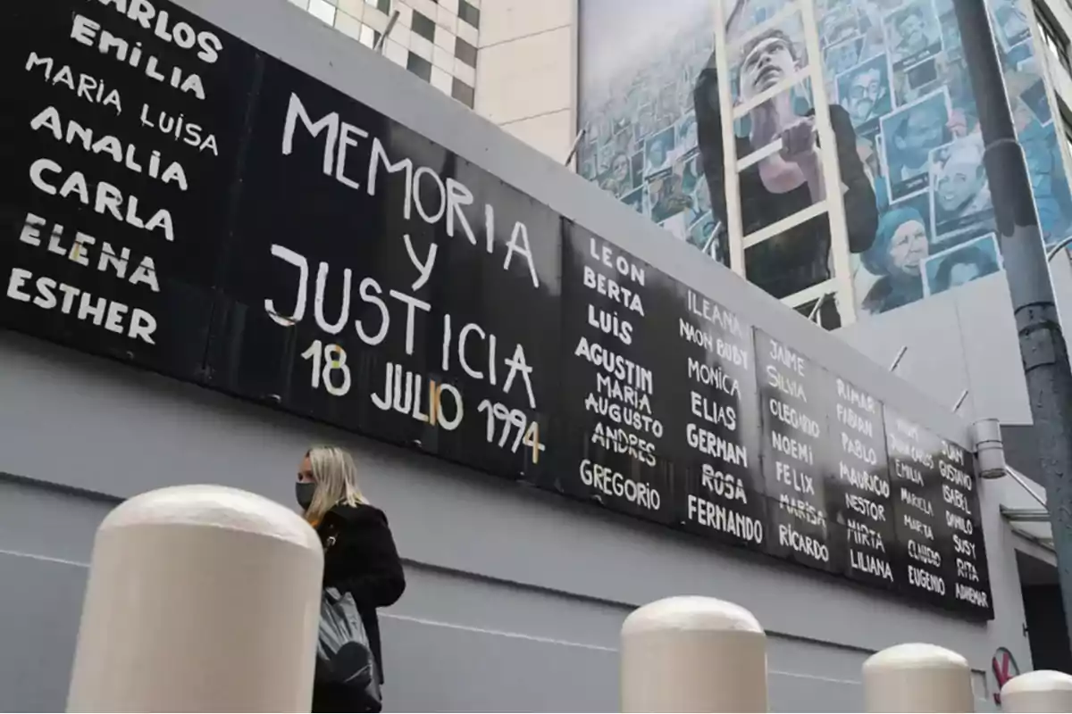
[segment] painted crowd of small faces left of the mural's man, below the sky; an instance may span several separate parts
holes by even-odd
[[[653,43],[655,44],[655,43]],[[581,176],[649,216],[680,240],[728,262],[723,225],[698,150],[693,90],[714,47],[706,18],[689,22],[670,42],[649,48],[636,70],[585,96],[578,147]]]

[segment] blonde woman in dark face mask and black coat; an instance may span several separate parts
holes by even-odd
[[[354,459],[336,446],[309,450],[298,470],[295,491],[306,520],[316,529],[321,542],[327,546],[333,538],[324,552],[324,588],[337,588],[354,596],[383,684],[376,608],[394,604],[405,590],[405,575],[387,517],[366,500],[357,486]],[[345,688],[317,683],[313,687],[313,711],[359,711],[353,697]]]

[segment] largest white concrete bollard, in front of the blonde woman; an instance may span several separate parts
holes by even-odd
[[[69,712],[308,712],[324,552],[254,493],[178,486],[101,523]]]

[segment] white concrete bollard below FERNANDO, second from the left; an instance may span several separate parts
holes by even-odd
[[[766,635],[748,610],[668,597],[622,625],[623,712],[765,712]]]

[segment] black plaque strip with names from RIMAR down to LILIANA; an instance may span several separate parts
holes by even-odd
[[[827,481],[827,516],[845,536],[845,574],[895,590],[895,516],[882,405],[840,377],[832,380],[829,423],[837,477]]]

